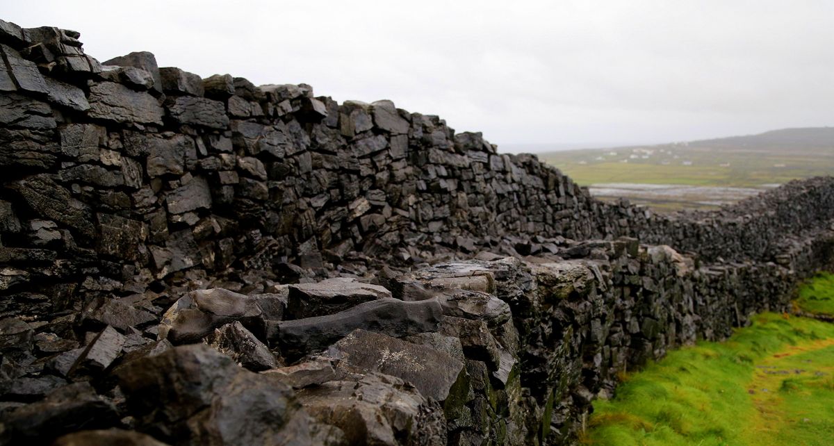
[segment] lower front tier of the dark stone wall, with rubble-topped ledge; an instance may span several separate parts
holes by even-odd
[[[620,373],[785,310],[796,280],[775,263],[696,268],[631,238],[545,243],[593,255],[481,253],[5,318],[0,441],[566,443]]]

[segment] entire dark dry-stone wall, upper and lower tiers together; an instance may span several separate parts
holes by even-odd
[[[656,216],[389,101],[78,38],[0,21],[0,444],[570,443],[831,266],[832,178]]]

